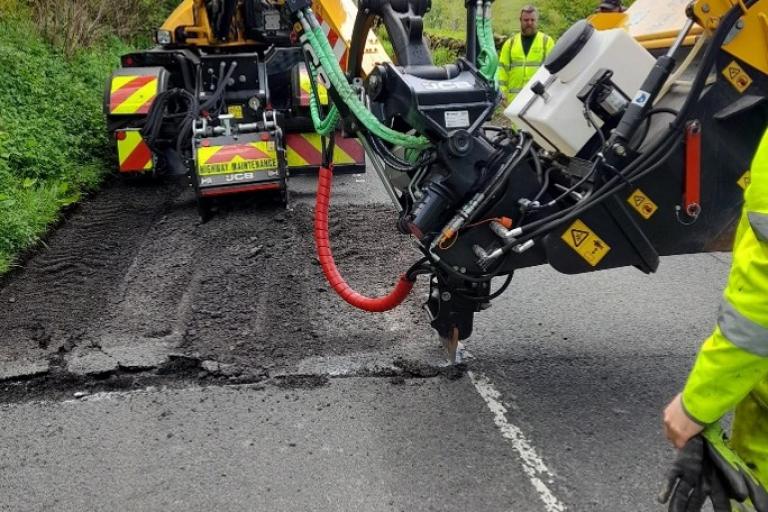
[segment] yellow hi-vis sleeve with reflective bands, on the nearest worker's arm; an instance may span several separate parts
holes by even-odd
[[[688,376],[683,406],[692,419],[713,423],[767,379],[768,131],[752,161],[717,327]]]

